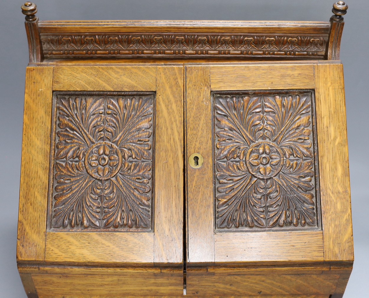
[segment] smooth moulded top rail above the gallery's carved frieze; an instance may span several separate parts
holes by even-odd
[[[205,30],[205,31],[204,31]],[[295,32],[328,34],[329,22],[293,21],[40,21],[41,34],[48,32]]]

